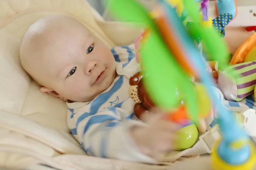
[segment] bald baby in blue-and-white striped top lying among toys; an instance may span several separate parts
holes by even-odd
[[[91,156],[155,163],[173,149],[174,122],[134,115],[129,78],[140,71],[134,45],[110,50],[79,21],[44,17],[26,31],[20,59],[40,90],[67,102],[68,126]],[[157,111],[154,111],[154,113]]]

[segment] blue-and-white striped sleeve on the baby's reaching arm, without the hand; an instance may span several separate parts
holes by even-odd
[[[118,110],[111,108],[94,115],[83,113],[77,119],[77,138],[83,149],[90,156],[153,163],[153,159],[140,153],[129,131],[145,124],[126,120]]]

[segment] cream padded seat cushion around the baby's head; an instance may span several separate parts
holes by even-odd
[[[139,31],[132,28],[129,32],[129,28],[120,23],[105,23],[86,0],[0,0],[0,110],[67,131],[66,104],[42,94],[21,67],[19,59],[19,45],[26,29],[50,14],[76,18],[110,48],[133,42]],[[117,44],[113,40],[117,40]]]

